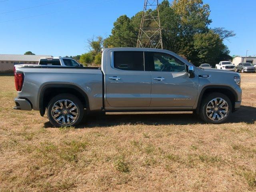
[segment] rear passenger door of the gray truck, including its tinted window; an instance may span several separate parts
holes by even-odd
[[[144,52],[117,50],[110,57],[105,74],[107,103],[120,108],[148,107],[151,73],[145,71]]]

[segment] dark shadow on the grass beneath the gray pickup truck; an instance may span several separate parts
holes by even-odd
[[[241,108],[232,113],[227,123],[245,122],[254,124],[256,121],[256,108],[250,106],[241,106]],[[106,114],[105,116],[89,116],[84,118],[77,128],[108,127],[123,124],[145,124],[145,125],[188,125],[188,124],[206,124],[199,116],[193,114]],[[52,127],[50,122],[44,125]]]

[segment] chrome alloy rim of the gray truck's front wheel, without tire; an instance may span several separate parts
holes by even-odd
[[[206,106],[206,114],[213,121],[220,121],[228,115],[228,103],[222,98],[214,98]]]

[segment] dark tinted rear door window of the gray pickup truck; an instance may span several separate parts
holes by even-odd
[[[114,68],[129,71],[144,71],[142,51],[115,51]]]

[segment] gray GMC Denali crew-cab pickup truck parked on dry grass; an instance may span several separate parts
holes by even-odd
[[[101,68],[16,68],[16,110],[46,110],[54,126],[76,126],[85,114],[193,111],[222,123],[241,104],[240,75],[205,70],[168,50],[106,48]]]

